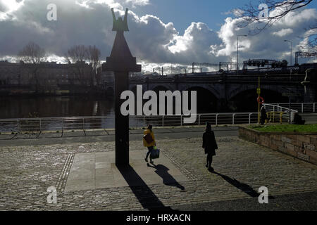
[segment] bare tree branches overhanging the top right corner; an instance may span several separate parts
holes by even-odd
[[[297,11],[299,8],[304,8],[309,5],[313,0],[261,0],[257,4],[245,5],[243,8],[237,9],[237,17],[242,18],[238,27],[248,27],[251,24],[255,24],[254,30],[250,31],[249,34],[259,34],[259,32],[266,30],[266,28],[271,27],[275,22],[285,17],[292,11]],[[268,11],[275,10],[274,14],[268,14],[266,18],[259,16],[263,12],[263,8],[259,7],[261,4],[267,6]],[[317,44],[317,22],[311,27],[306,27],[305,37],[308,39],[307,45],[316,50]],[[303,46],[304,48],[304,46]]]

